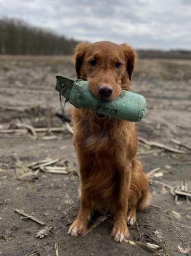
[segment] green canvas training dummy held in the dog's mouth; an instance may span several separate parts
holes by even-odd
[[[56,90],[75,108],[91,109],[102,115],[130,122],[139,122],[146,112],[146,99],[137,93],[122,90],[114,100],[98,99],[89,90],[89,82],[56,76]]]

